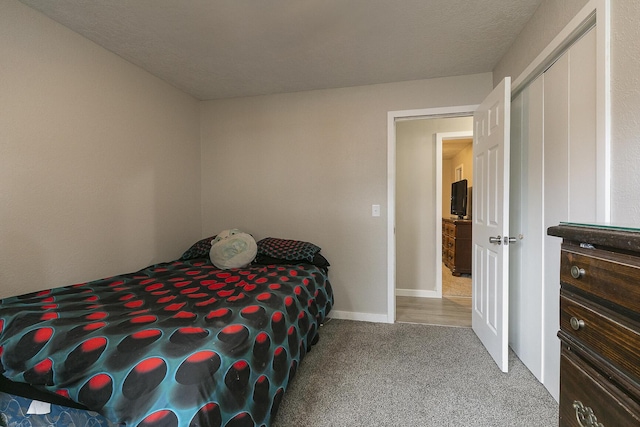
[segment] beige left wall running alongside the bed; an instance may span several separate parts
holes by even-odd
[[[198,103],[0,2],[0,297],[133,271],[200,236]]]

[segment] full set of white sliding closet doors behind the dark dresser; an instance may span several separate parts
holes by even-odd
[[[596,219],[595,30],[513,104],[511,235],[524,239],[511,249],[510,346],[557,400],[560,239],[546,229]]]

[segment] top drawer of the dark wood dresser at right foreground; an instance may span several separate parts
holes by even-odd
[[[635,311],[636,316],[640,312],[640,261],[637,257],[563,245],[560,281]]]

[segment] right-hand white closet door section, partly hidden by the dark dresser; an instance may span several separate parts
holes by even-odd
[[[596,34],[592,29],[544,74],[544,228],[593,222],[596,194]],[[545,236],[543,382],[560,390],[560,239]],[[555,278],[556,283],[553,283]]]

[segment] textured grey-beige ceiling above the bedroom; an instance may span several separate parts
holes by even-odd
[[[541,0],[21,0],[198,99],[490,72]]]

